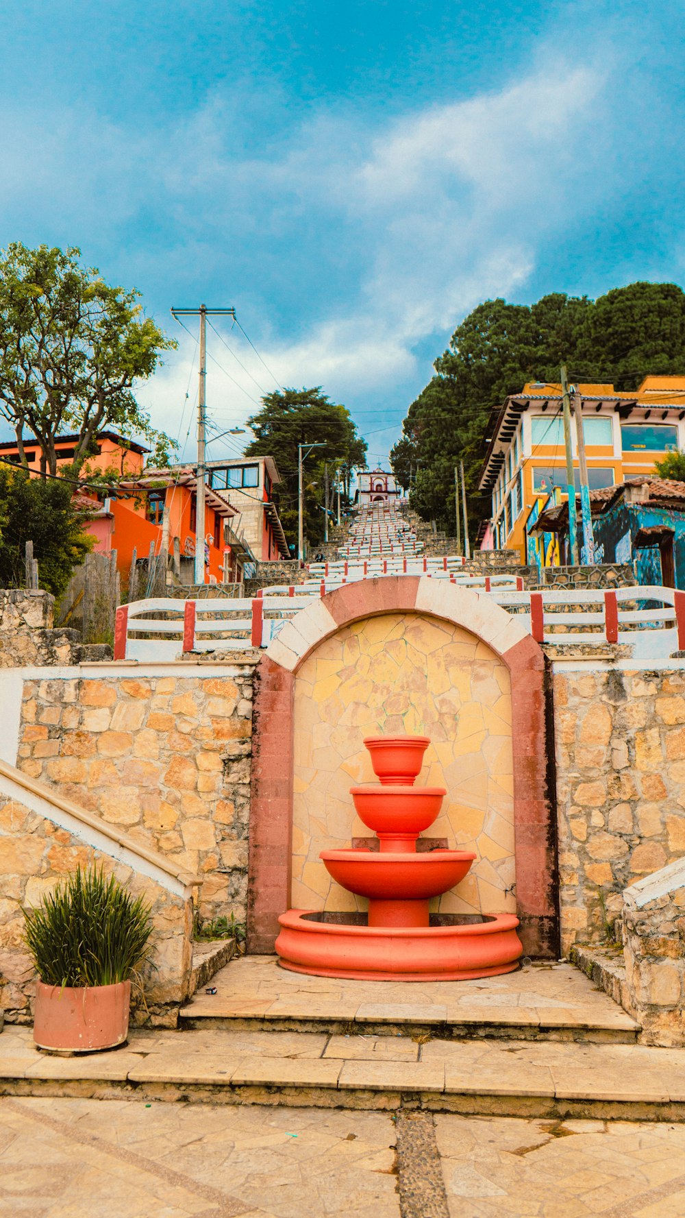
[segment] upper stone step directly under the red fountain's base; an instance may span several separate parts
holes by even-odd
[[[353,982],[245,956],[217,973],[215,994],[181,1009],[181,1027],[445,1039],[634,1044],[639,1023],[566,963],[529,965],[472,982]]]

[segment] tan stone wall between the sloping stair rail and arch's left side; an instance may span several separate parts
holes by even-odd
[[[203,918],[245,917],[253,667],[23,686],[18,767],[204,876]]]

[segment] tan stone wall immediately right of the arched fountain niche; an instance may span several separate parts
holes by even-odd
[[[567,952],[607,942],[623,889],[685,855],[685,670],[554,667]]]

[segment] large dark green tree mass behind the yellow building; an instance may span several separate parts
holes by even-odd
[[[572,380],[617,389],[635,387],[647,373],[685,373],[685,294],[675,284],[639,283],[596,301],[555,292],[530,306],[478,304],[436,359],[391,452],[398,477],[408,463],[417,470],[410,501],[423,519],[454,531],[459,460],[471,531],[489,515],[489,498],[477,490],[488,425],[526,381],[558,382],[562,363]]]

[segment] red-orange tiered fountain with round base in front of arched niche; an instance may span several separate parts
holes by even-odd
[[[516,968],[522,954],[513,914],[429,914],[464,879],[467,850],[416,853],[419,834],[440,810],[443,787],[415,787],[426,736],[364,741],[381,786],[352,787],[359,818],[378,849],[321,850],[326,870],[350,893],[369,898],[369,914],[288,910],[276,951],[283,968],[320,977],[370,980],[466,980]]]

